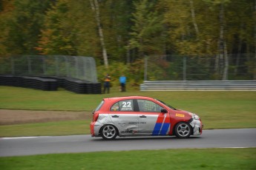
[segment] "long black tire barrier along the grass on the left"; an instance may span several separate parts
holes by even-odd
[[[56,91],[58,87],[79,94],[101,94],[101,84],[81,81],[75,78],[28,77],[0,75],[0,86],[19,86],[45,91]]]

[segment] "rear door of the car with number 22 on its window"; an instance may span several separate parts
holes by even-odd
[[[119,130],[120,136],[134,135],[138,131],[139,115],[134,112],[134,100],[118,101],[111,106],[111,121]]]

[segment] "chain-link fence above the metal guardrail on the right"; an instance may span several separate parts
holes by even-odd
[[[226,80],[253,80],[255,54],[228,56]],[[220,56],[151,55],[145,57],[145,81],[222,81],[226,63]]]

